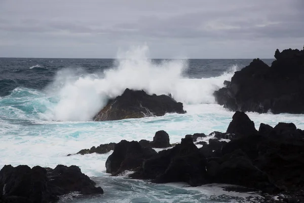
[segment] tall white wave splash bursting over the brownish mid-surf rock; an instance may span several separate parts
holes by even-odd
[[[81,69],[64,69],[57,73],[47,92],[58,103],[41,115],[44,120],[88,121],[102,109],[109,98],[121,95],[126,88],[145,90],[149,94],[168,94],[184,104],[214,104],[214,90],[223,86],[236,70],[220,77],[189,79],[182,77],[187,60],[148,58],[148,47],[133,47],[119,53],[115,66],[103,73],[86,74]]]

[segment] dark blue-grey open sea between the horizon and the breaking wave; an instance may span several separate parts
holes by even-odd
[[[152,60],[160,63],[162,59]],[[189,59],[188,69],[183,75],[189,78],[220,76],[236,66],[248,65],[252,59]],[[271,64],[273,59],[263,59]],[[115,59],[67,59],[67,58],[0,58],[0,96],[10,94],[16,87],[43,89],[50,84],[59,70],[83,69],[96,73],[116,66]]]

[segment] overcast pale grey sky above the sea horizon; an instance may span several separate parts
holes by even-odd
[[[274,58],[302,49],[304,0],[0,0],[0,57]]]

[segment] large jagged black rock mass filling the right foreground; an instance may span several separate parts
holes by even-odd
[[[133,171],[129,177],[155,183],[223,183],[273,194],[304,192],[304,131],[293,123],[275,127],[261,123],[256,130],[245,113],[236,112],[227,132],[210,136],[208,144],[199,142],[199,137],[185,136],[180,144],[159,153],[134,141],[122,141],[107,160],[107,172]]]

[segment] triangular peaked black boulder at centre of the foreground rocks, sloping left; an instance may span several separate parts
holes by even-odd
[[[151,179],[155,183],[186,182],[191,186],[206,182],[206,158],[191,138],[182,139],[172,149],[143,162],[140,170],[131,175],[137,179]]]

